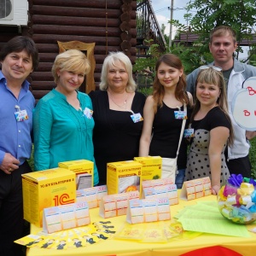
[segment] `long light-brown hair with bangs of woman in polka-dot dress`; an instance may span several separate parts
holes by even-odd
[[[218,103],[218,108],[220,108],[224,112],[226,118],[230,122],[230,137],[228,139],[228,145],[230,146],[234,142],[234,131],[233,131],[233,126],[232,126],[232,122],[231,122],[229,110],[228,110],[227,92],[226,92],[223,73],[221,71],[215,70],[213,67],[208,67],[207,69],[201,69],[195,81],[195,92],[196,92],[197,84],[203,84],[203,83],[217,85],[218,89],[220,90],[217,103]],[[201,108],[201,102],[198,101],[198,99],[196,98],[196,93],[195,93],[194,102],[195,102],[195,105],[194,105],[193,113],[191,114],[191,120],[195,118],[195,114],[198,113],[198,111]]]

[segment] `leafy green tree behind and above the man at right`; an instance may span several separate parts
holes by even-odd
[[[251,39],[256,25],[256,5],[254,0],[190,0],[187,10],[196,9],[189,25],[192,32],[200,35],[199,42],[204,42],[201,55],[208,52],[209,33],[215,26],[231,26],[237,35],[238,48],[236,58],[242,51],[240,42]],[[183,26],[180,29],[185,31]],[[247,61],[247,60],[246,60]]]

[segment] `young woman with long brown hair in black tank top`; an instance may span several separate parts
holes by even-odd
[[[185,90],[183,65],[176,55],[160,56],[155,71],[153,96],[148,96],[143,111],[144,125],[139,155],[176,158],[183,119],[187,118],[189,113],[183,113],[183,117],[177,119],[175,112],[184,111],[183,104],[189,105],[192,96]],[[177,158],[178,172],[175,183],[178,189],[183,185],[186,162],[187,145],[183,139]]]

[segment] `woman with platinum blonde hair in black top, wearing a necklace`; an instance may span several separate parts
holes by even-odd
[[[109,162],[138,156],[146,97],[136,91],[130,59],[110,53],[102,66],[100,90],[91,91],[95,127],[93,143],[99,184],[107,182]]]

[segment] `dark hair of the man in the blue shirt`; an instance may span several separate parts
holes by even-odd
[[[12,52],[20,52],[23,49],[26,50],[27,54],[32,57],[32,67],[37,69],[38,67],[38,49],[32,38],[18,36],[10,39],[0,51],[0,61],[3,61],[7,55]]]

